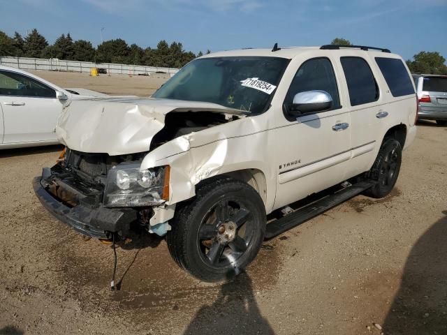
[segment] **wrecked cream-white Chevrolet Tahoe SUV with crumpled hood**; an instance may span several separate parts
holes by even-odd
[[[57,126],[64,155],[34,189],[82,234],[166,234],[181,267],[219,281],[263,239],[358,193],[387,195],[416,108],[408,68],[386,49],[208,54],[151,98],[71,101]]]

